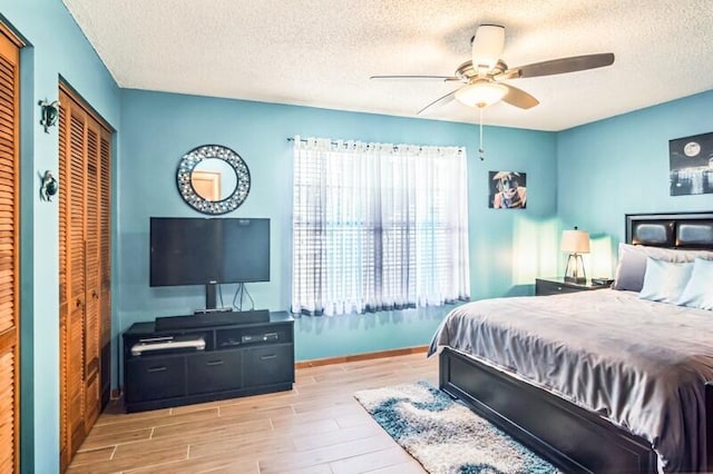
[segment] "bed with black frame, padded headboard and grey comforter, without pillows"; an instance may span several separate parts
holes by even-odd
[[[625,220],[618,289],[453,309],[430,348],[440,387],[565,472],[713,471],[713,314],[639,298],[651,280],[632,290],[622,265],[624,249],[707,265],[713,214]]]

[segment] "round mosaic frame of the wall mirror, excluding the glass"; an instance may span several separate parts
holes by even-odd
[[[227,162],[235,171],[236,185],[233,192],[222,200],[207,200],[199,196],[191,176],[195,167],[203,160],[217,158]],[[183,200],[194,209],[203,214],[219,215],[237,209],[250,192],[250,169],[243,158],[232,149],[222,145],[202,145],[185,154],[178,162],[176,171],[176,185]]]

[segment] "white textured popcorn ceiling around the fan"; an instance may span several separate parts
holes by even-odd
[[[561,130],[713,89],[713,0],[64,0],[120,87],[416,117],[480,23],[509,67],[614,52],[608,68],[510,83],[491,125]],[[477,122],[457,101],[424,117]]]

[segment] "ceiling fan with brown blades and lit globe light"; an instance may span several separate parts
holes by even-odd
[[[423,107],[419,110],[419,115],[431,107],[443,106],[453,99],[480,109],[499,100],[520,109],[529,109],[537,106],[539,101],[522,89],[504,81],[583,71],[614,63],[614,53],[604,52],[508,68],[500,59],[505,46],[505,27],[499,24],[479,26],[471,42],[472,59],[460,65],[453,76],[372,76],[370,79],[436,79],[463,83],[460,88]]]

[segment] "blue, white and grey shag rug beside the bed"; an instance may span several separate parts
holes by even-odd
[[[354,397],[431,474],[549,474],[559,471],[427,382]]]

